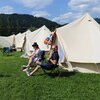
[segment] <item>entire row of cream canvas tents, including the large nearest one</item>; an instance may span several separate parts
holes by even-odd
[[[22,48],[25,55],[32,51],[32,44],[37,42],[40,49],[49,51],[50,45],[44,40],[52,32],[46,27],[31,32],[26,31],[9,37],[0,37],[0,47],[11,46]],[[100,25],[89,15],[85,14],[74,22],[56,29],[55,44],[58,45],[60,64],[65,64],[70,71],[84,73],[100,73]]]

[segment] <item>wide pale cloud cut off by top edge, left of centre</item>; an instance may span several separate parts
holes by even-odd
[[[25,7],[40,9],[50,5],[53,0],[14,0]]]

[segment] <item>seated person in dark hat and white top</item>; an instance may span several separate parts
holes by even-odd
[[[29,56],[29,61],[28,64],[22,67],[23,71],[27,71],[29,69],[29,67],[31,66],[32,63],[36,63],[36,61],[39,60],[38,58],[38,54],[40,52],[39,46],[36,42],[34,42],[34,44],[32,45],[34,48],[34,51],[32,52],[32,54]]]

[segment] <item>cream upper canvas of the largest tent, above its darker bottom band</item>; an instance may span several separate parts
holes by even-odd
[[[100,62],[100,25],[89,15],[57,29],[65,57],[72,62]]]

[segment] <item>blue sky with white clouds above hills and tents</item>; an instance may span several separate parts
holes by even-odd
[[[0,13],[30,14],[65,24],[85,13],[100,18],[99,2],[100,0],[0,0]]]

